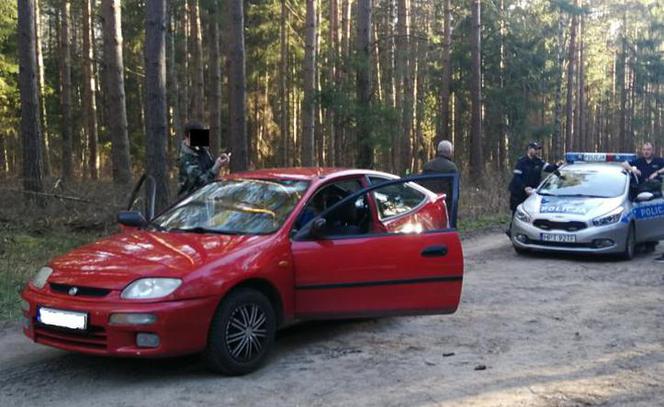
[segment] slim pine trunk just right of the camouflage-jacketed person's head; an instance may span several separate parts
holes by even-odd
[[[221,50],[219,44],[219,0],[209,0],[208,8],[210,38],[210,149],[213,155],[219,154],[222,146],[221,139]]]

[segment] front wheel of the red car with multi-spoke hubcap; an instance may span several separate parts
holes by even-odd
[[[276,329],[265,295],[250,288],[232,291],[212,319],[203,358],[211,370],[227,376],[251,373],[265,362]]]

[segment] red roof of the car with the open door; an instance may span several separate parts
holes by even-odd
[[[398,176],[388,174],[386,172],[334,167],[264,168],[260,170],[237,172],[220,178],[259,178],[315,181],[353,175],[374,175],[379,177],[398,178]]]

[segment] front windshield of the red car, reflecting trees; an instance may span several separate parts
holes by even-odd
[[[307,181],[235,179],[213,182],[157,217],[158,230],[268,234],[281,227]]]

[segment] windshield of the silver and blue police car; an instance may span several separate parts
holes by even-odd
[[[537,191],[540,195],[615,198],[625,192],[627,176],[598,169],[560,170],[550,175]]]

